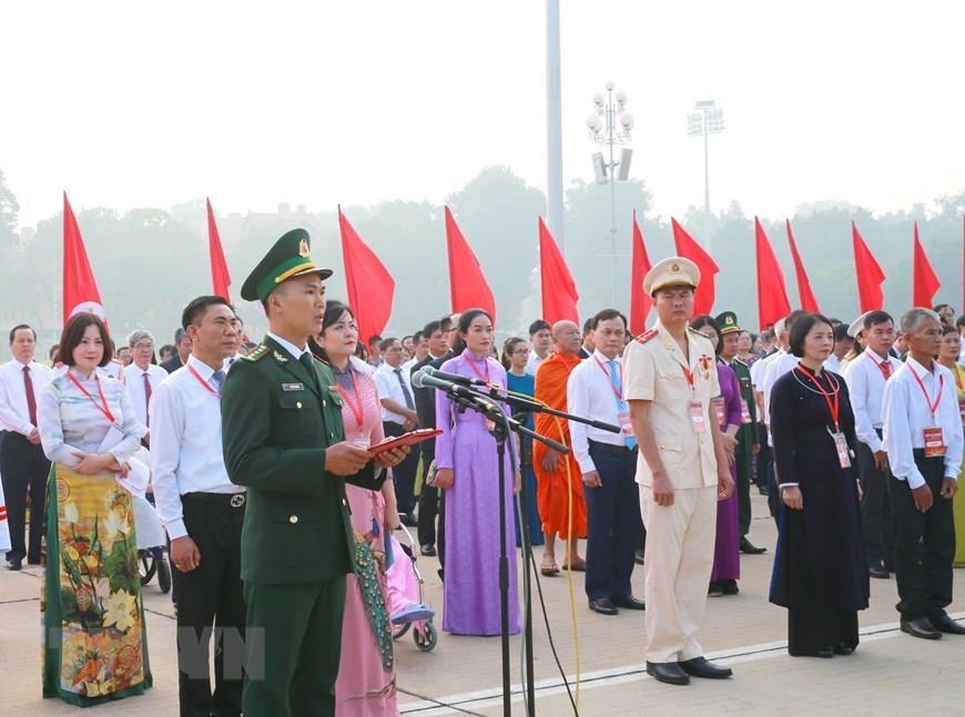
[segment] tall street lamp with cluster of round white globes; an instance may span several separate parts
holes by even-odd
[[[633,115],[627,112],[627,93],[613,92],[616,85],[612,81],[607,82],[607,94],[597,92],[593,95],[593,114],[587,117],[587,126],[593,142],[609,150],[609,161],[602,152],[592,155],[593,175],[597,184],[610,185],[610,258],[611,281],[610,296],[612,306],[617,305],[617,190],[616,182],[626,182],[630,177],[630,160],[633,150],[623,147],[618,162],[613,156],[613,148],[618,144],[626,144],[631,140],[630,132],[633,130]],[[617,171],[619,167],[619,172]]]

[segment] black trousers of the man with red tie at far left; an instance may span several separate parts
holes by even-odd
[[[16,431],[0,432],[0,478],[7,501],[10,550],[7,560],[40,563],[47,513],[47,477],[50,461],[40,444],[34,445]],[[26,540],[27,505],[30,504],[30,542]]]

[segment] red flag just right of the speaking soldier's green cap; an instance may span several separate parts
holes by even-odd
[[[359,238],[338,207],[338,231],[342,234],[342,258],[345,263],[345,284],[348,305],[355,313],[359,340],[368,342],[378,336],[392,316],[395,280],[385,265]]]

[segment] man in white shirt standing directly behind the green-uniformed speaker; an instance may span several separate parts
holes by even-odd
[[[154,499],[175,567],[181,715],[238,715],[246,496],[244,488],[228,480],[221,442],[223,366],[234,355],[238,336],[234,313],[219,296],[192,300],[182,321],[191,337],[191,355],[158,386],[151,401]],[[209,651],[214,629],[212,695]]]

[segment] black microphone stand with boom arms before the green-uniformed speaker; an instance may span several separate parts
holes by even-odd
[[[572,416],[563,411],[558,411],[542,406],[537,401],[509,396],[499,387],[489,387],[488,392],[476,389],[467,389],[461,386],[454,387],[458,390],[447,390],[446,393],[459,408],[459,412],[466,409],[471,409],[484,414],[492,421],[490,433],[496,439],[496,453],[499,460],[499,616],[500,616],[500,637],[502,648],[502,714],[504,717],[512,715],[511,708],[511,687],[509,680],[509,552],[506,541],[507,527],[507,509],[506,509],[506,441],[510,432],[521,436],[529,436],[545,445],[563,454],[569,454],[570,449],[565,444],[540,436],[532,431],[521,422],[509,418],[502,408],[496,401],[502,401],[516,408],[520,408],[526,412],[541,412],[551,416],[557,416],[565,420],[578,421],[587,426],[593,426],[605,431],[619,433],[620,428],[610,423],[603,423],[580,416]],[[469,393],[475,393],[470,396]],[[526,486],[522,486],[520,492],[520,513],[522,515],[522,535],[520,544],[522,546],[522,560],[526,570],[522,572],[522,594],[524,594],[524,624],[525,631],[522,635],[522,651],[526,663],[526,714],[527,717],[536,715],[536,686],[534,676],[534,651],[532,651],[532,601],[531,601],[531,580],[529,574],[529,565],[532,563],[532,544],[529,537],[529,521],[528,501],[526,498]]]

